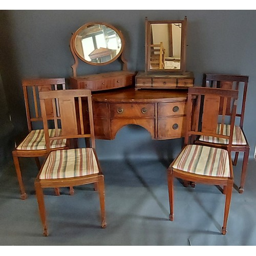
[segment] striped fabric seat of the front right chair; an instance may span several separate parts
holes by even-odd
[[[221,148],[187,145],[173,164],[184,172],[214,177],[229,177],[228,152]]]

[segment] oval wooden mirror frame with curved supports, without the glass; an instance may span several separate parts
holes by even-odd
[[[92,25],[104,25],[106,27],[109,27],[111,29],[113,29],[117,34],[118,36],[120,37],[121,39],[121,49],[119,51],[119,53],[111,60],[109,61],[106,61],[106,62],[101,62],[101,63],[97,63],[97,62],[92,62],[92,61],[88,61],[86,59],[84,59],[76,50],[75,48],[75,38],[76,36],[83,30],[83,29],[86,29],[87,27],[89,26],[92,26]],[[125,42],[124,42],[124,37],[121,33],[120,30],[116,29],[114,26],[110,25],[110,24],[107,24],[107,23],[103,23],[103,22],[90,22],[90,23],[86,23],[84,24],[83,26],[81,26],[80,28],[78,28],[76,30],[75,33],[72,33],[72,37],[71,37],[71,40],[70,40],[70,49],[71,49],[71,52],[72,52],[72,55],[74,57],[74,60],[75,60],[75,63],[74,65],[72,65],[72,69],[73,69],[73,74],[74,76],[76,77],[76,68],[78,67],[78,58],[80,60],[82,60],[83,62],[86,62],[90,65],[94,65],[94,66],[103,66],[103,65],[108,65],[112,62],[114,62],[116,59],[118,59],[120,56],[121,56],[121,61],[123,62],[123,70],[126,70],[127,69],[127,66],[126,66],[126,60],[124,59],[124,57],[122,56],[123,54],[123,49],[124,49],[124,46],[125,46]]]

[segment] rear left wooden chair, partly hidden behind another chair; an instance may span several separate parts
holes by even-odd
[[[28,131],[29,134],[26,138],[16,146],[15,150],[12,152],[13,161],[18,177],[18,183],[21,192],[21,198],[25,200],[27,194],[22,180],[22,174],[20,172],[19,157],[34,157],[38,170],[40,169],[39,158],[41,156],[47,155],[46,142],[44,137],[44,130],[38,129],[33,130],[33,124],[40,125],[42,128],[42,118],[40,113],[39,96],[38,93],[42,91],[51,90],[65,90],[65,79],[24,79],[22,81],[25,107],[27,113]],[[47,115],[48,119],[52,119],[52,108],[47,103]],[[49,133],[55,133],[53,129],[49,130]],[[57,148],[66,147],[66,140],[55,140],[51,143],[51,150],[56,150]]]

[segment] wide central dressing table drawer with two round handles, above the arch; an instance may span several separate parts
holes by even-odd
[[[155,104],[153,103],[121,103],[110,105],[111,117],[154,117]]]

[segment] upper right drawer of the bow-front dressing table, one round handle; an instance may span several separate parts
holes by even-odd
[[[168,102],[158,104],[158,117],[184,115],[186,101]]]

